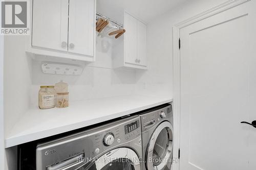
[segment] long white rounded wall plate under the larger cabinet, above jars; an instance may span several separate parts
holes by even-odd
[[[83,68],[76,65],[42,63],[42,72],[54,75],[81,75]]]

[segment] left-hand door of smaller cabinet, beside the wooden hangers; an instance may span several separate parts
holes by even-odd
[[[137,19],[130,14],[124,14],[125,62],[138,64],[137,61]]]

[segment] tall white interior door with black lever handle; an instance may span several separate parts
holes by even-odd
[[[180,31],[180,169],[253,170],[256,2]]]

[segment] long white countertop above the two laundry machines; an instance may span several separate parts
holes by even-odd
[[[19,120],[5,139],[5,148],[87,127],[172,102],[166,96],[129,95],[76,101],[68,108],[33,108]]]

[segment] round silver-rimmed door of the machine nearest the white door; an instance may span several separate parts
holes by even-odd
[[[161,123],[151,136],[146,151],[148,170],[162,170],[172,163],[173,126],[169,122]]]

